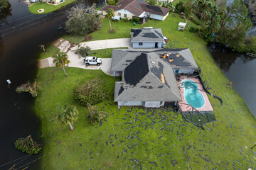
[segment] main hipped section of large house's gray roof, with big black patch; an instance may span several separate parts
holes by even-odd
[[[172,68],[149,54],[140,52],[124,69],[122,81],[114,87],[114,101],[181,101]]]

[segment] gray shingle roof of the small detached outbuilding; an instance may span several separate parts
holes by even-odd
[[[164,42],[161,28],[132,28],[131,42]]]

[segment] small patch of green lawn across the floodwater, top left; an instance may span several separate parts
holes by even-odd
[[[43,14],[43,13],[50,13],[52,11],[56,11],[58,8],[62,8],[63,6],[66,6],[68,4],[73,3],[76,0],[65,0],[65,2],[58,4],[58,5],[54,5],[54,4],[46,4],[46,2],[43,3],[33,3],[31,6],[28,7],[29,11],[31,13],[35,13],[35,14]],[[44,9],[43,13],[38,13],[38,9]]]

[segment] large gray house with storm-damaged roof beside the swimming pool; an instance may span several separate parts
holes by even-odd
[[[119,49],[112,51],[111,71],[122,75],[114,86],[118,106],[159,108],[181,101],[176,73],[197,69],[189,49]]]

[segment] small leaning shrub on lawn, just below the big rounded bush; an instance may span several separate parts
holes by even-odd
[[[100,111],[96,106],[91,106],[89,103],[87,103],[88,111],[89,111],[89,119],[91,123],[97,123],[102,120],[102,118],[105,118],[107,113]]]

